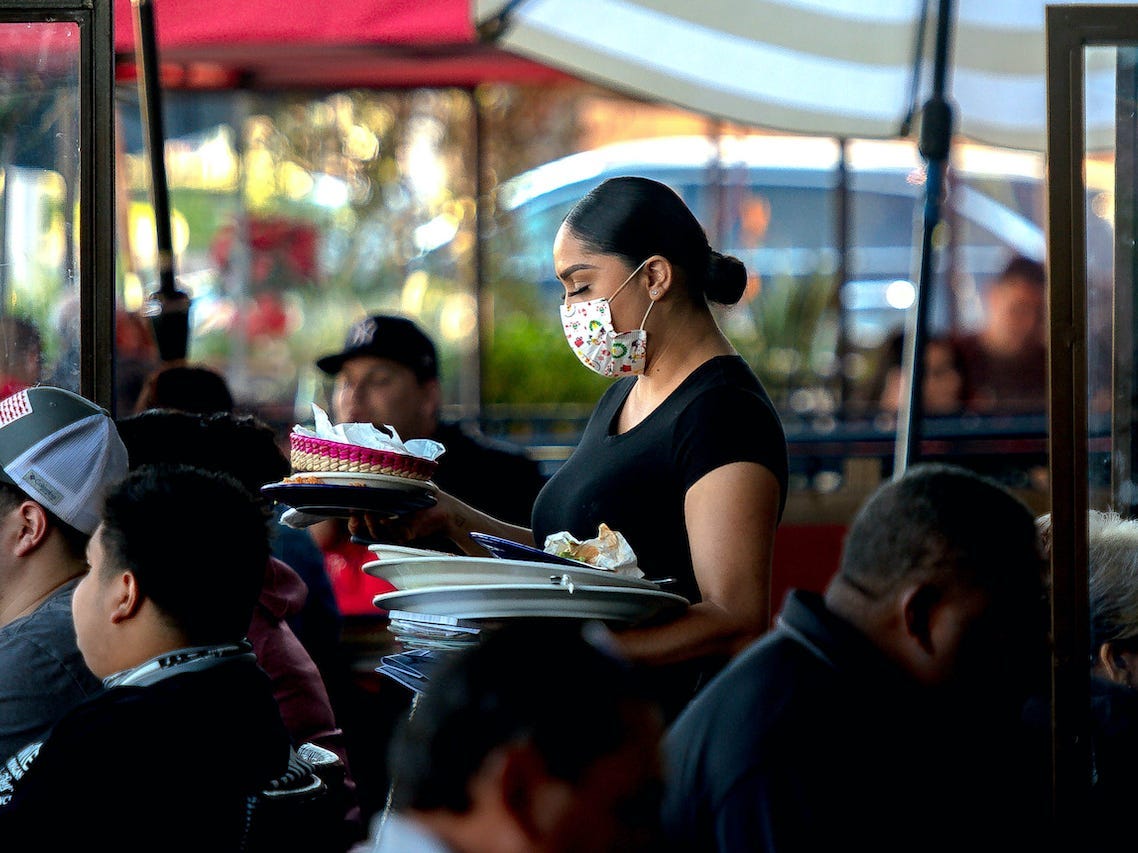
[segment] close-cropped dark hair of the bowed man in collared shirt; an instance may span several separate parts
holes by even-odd
[[[839,574],[883,594],[915,573],[951,572],[990,589],[1041,579],[1031,511],[999,483],[923,463],[871,495],[850,524]]]

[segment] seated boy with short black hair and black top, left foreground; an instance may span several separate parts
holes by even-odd
[[[108,495],[73,602],[107,689],[0,768],[6,847],[77,850],[109,820],[118,851],[245,848],[250,797],[291,756],[245,640],[267,560],[264,517],[228,477],[142,467]]]

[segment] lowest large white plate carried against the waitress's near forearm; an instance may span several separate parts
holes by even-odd
[[[380,610],[403,610],[465,620],[525,616],[600,619],[625,623],[678,615],[688,606],[686,598],[659,589],[576,586],[570,593],[568,587],[531,583],[397,590],[380,593],[376,596],[374,604]]]

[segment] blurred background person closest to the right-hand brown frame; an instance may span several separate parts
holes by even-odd
[[[984,289],[980,331],[958,340],[970,411],[1021,414],[1047,409],[1046,275],[1016,256]]]

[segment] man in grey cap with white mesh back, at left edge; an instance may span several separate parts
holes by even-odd
[[[43,386],[0,400],[0,764],[102,688],[71,602],[102,496],[125,474],[126,448],[93,403]]]

